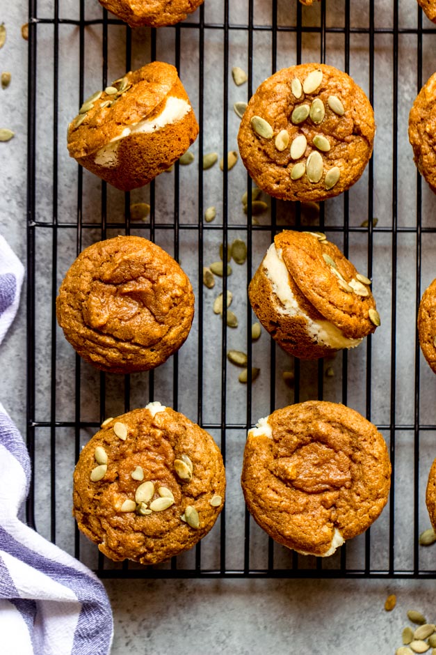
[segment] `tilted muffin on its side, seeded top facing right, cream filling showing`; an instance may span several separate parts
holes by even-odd
[[[369,280],[324,234],[277,234],[248,287],[253,311],[302,359],[355,348],[380,325]]]

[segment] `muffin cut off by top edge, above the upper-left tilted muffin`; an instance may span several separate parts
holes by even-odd
[[[204,0],[99,0],[104,8],[131,27],[174,25],[193,13]]]

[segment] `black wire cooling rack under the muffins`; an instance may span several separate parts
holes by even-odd
[[[33,461],[29,523],[102,577],[362,577],[435,578],[435,551],[419,546],[429,527],[424,493],[436,455],[435,380],[417,342],[417,307],[435,277],[436,203],[417,174],[407,143],[415,95],[436,68],[436,29],[415,0],[205,0],[168,29],[132,31],[97,0],[29,1],[29,157],[27,439]],[[69,160],[67,123],[83,98],[125,70],[147,61],[175,63],[195,107],[200,134],[195,161],[176,164],[144,190],[122,194]],[[319,208],[268,202],[252,218],[251,181],[238,162],[236,100],[248,100],[277,68],[321,61],[350,72],[375,107],[374,155],[355,187]],[[232,66],[248,73],[237,87]],[[218,151],[218,165],[202,169],[202,155]],[[248,190],[248,211],[241,195]],[[132,201],[150,203],[149,222],[133,222]],[[204,211],[218,207],[215,222]],[[246,286],[277,231],[319,229],[373,277],[382,327],[334,360],[300,362],[284,355],[266,333],[252,343],[254,320]],[[163,245],[188,272],[195,290],[193,330],[163,367],[135,376],[99,373],[72,352],[58,330],[60,281],[83,247],[118,233]],[[235,236],[248,245],[245,265],[216,288],[202,285],[204,265]],[[433,268],[433,270],[432,270]],[[232,288],[240,325],[213,315],[216,293]],[[381,304],[380,304],[380,300]],[[241,385],[227,350],[260,362],[254,383]],[[283,371],[293,371],[286,387]],[[303,557],[274,544],[245,511],[239,487],[247,429],[275,408],[305,399],[353,406],[377,424],[389,445],[392,487],[382,516],[334,556]],[[114,564],[81,537],[71,516],[72,470],[81,445],[107,415],[159,399],[209,430],[223,452],[227,501],[201,544],[160,567]]]

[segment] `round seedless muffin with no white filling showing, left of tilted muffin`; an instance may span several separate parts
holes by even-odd
[[[79,254],[60,285],[56,316],[67,341],[98,369],[148,371],[188,337],[194,295],[165,250],[118,236]]]

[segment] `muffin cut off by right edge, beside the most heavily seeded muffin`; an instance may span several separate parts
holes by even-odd
[[[410,109],[409,141],[417,169],[436,193],[436,72],[421,88]]]

